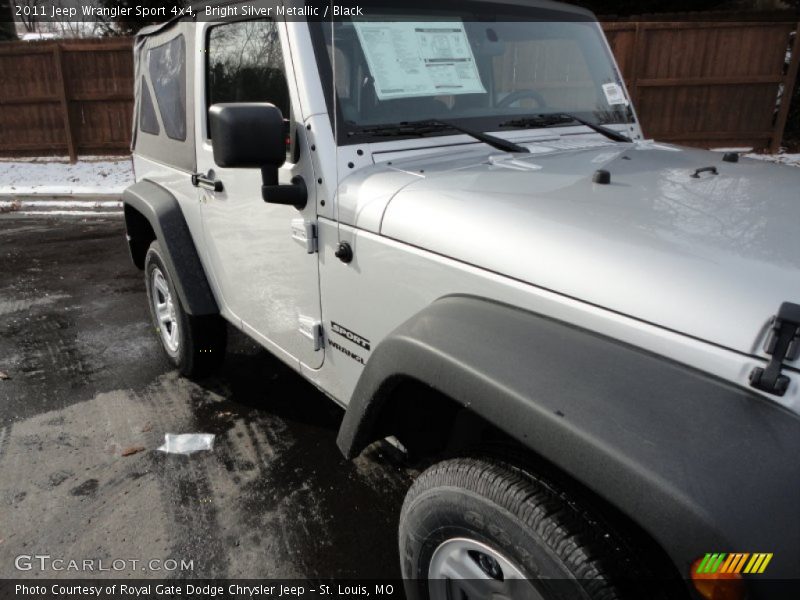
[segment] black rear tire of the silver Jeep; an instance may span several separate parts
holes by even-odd
[[[156,280],[154,278],[156,272],[160,273],[163,279]],[[154,241],[147,249],[144,259],[144,274],[150,316],[153,319],[156,335],[161,342],[161,348],[169,361],[185,377],[199,378],[212,373],[222,364],[225,357],[227,327],[224,319],[219,315],[197,317],[187,314],[175,292],[174,275],[166,266],[158,241]],[[170,347],[162,333],[166,330],[167,337],[170,337],[170,325],[167,324],[162,329],[162,323],[157,315],[155,298],[167,297],[166,294],[158,292],[159,286],[163,286],[164,283],[169,290],[168,299],[171,301],[173,322],[177,324],[173,336],[173,340],[176,342],[174,347]],[[154,295],[154,292],[157,295]]]

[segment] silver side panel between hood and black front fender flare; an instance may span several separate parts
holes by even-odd
[[[763,358],[734,352],[610,312],[581,299],[348,226],[340,228],[340,235],[353,245],[355,258],[350,265],[344,265],[333,257],[331,240],[337,236],[336,223],[320,219],[319,230],[325,330],[330,330],[331,320],[345,326],[349,324],[373,342],[373,347],[438,298],[460,293],[558,319],[748,389],[752,389],[748,383],[750,371],[766,363]],[[376,310],[375,307],[380,308]],[[520,363],[524,365],[524,357],[520,357]],[[306,372],[306,376],[342,404],[347,404],[361,371],[361,366],[353,361],[327,352],[323,368]],[[797,377],[792,379],[783,397],[762,395],[800,413],[800,385]]]

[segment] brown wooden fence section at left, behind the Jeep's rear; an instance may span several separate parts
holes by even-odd
[[[0,43],[0,155],[127,154],[130,38]]]

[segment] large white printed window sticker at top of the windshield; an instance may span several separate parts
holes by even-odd
[[[353,25],[379,100],[486,93],[462,22]]]

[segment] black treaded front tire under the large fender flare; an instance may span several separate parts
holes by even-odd
[[[485,591],[472,594],[469,585],[455,578],[447,585],[456,585],[457,593],[453,589],[445,593],[441,581],[435,584],[441,591],[431,592],[428,577],[442,577],[437,565],[442,564],[443,555],[456,557],[452,559],[456,563],[458,557],[468,557],[462,560],[474,560],[479,568],[482,564],[482,572],[493,572],[498,581],[515,576],[528,580],[514,582],[521,587],[513,592],[493,589],[494,598],[673,597],[663,589],[664,582],[648,577],[636,551],[606,521],[593,517],[576,498],[552,484],[499,460],[457,458],[423,472],[406,495],[399,529],[401,570],[409,600],[489,595]],[[491,557],[488,563],[480,548],[465,550],[471,546],[464,544],[473,542],[495,553],[486,552]],[[456,550],[450,551],[453,547]],[[501,574],[503,564],[516,568],[516,575],[514,568]],[[487,565],[500,568],[500,573],[487,571]],[[463,572],[474,568],[469,565]]]

